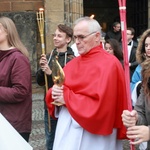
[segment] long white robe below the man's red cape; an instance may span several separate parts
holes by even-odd
[[[81,110],[82,111],[82,110]],[[117,130],[108,136],[91,134],[83,129],[69,114],[66,107],[55,109],[58,117],[53,150],[122,150],[117,140]],[[102,122],[101,122],[102,123]]]

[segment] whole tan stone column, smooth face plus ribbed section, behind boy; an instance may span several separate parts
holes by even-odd
[[[59,23],[72,27],[73,22],[83,16],[83,0],[45,0],[45,43],[46,52],[53,48],[53,36]]]

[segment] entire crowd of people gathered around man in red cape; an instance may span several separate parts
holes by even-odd
[[[59,24],[53,34],[54,49],[41,55],[36,81],[40,86],[48,82],[43,100],[47,150],[122,150],[122,140],[127,138],[130,144],[144,144],[142,150],[150,149],[150,30],[137,42],[135,30],[127,28],[133,107],[129,111],[121,25],[114,22],[112,27],[102,43],[101,26],[93,18],[78,18],[73,29]],[[62,84],[59,68],[54,80],[56,60],[65,75]],[[8,17],[0,17],[0,68],[0,113],[28,142],[29,54]]]

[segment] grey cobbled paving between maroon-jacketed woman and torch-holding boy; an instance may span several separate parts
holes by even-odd
[[[46,150],[43,94],[34,93],[32,100],[32,131],[29,144],[33,150]]]

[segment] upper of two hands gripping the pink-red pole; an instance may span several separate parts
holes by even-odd
[[[123,124],[126,127],[132,127],[135,126],[136,122],[138,120],[138,113],[135,110],[132,111],[128,111],[128,110],[124,110],[122,113],[122,121]]]

